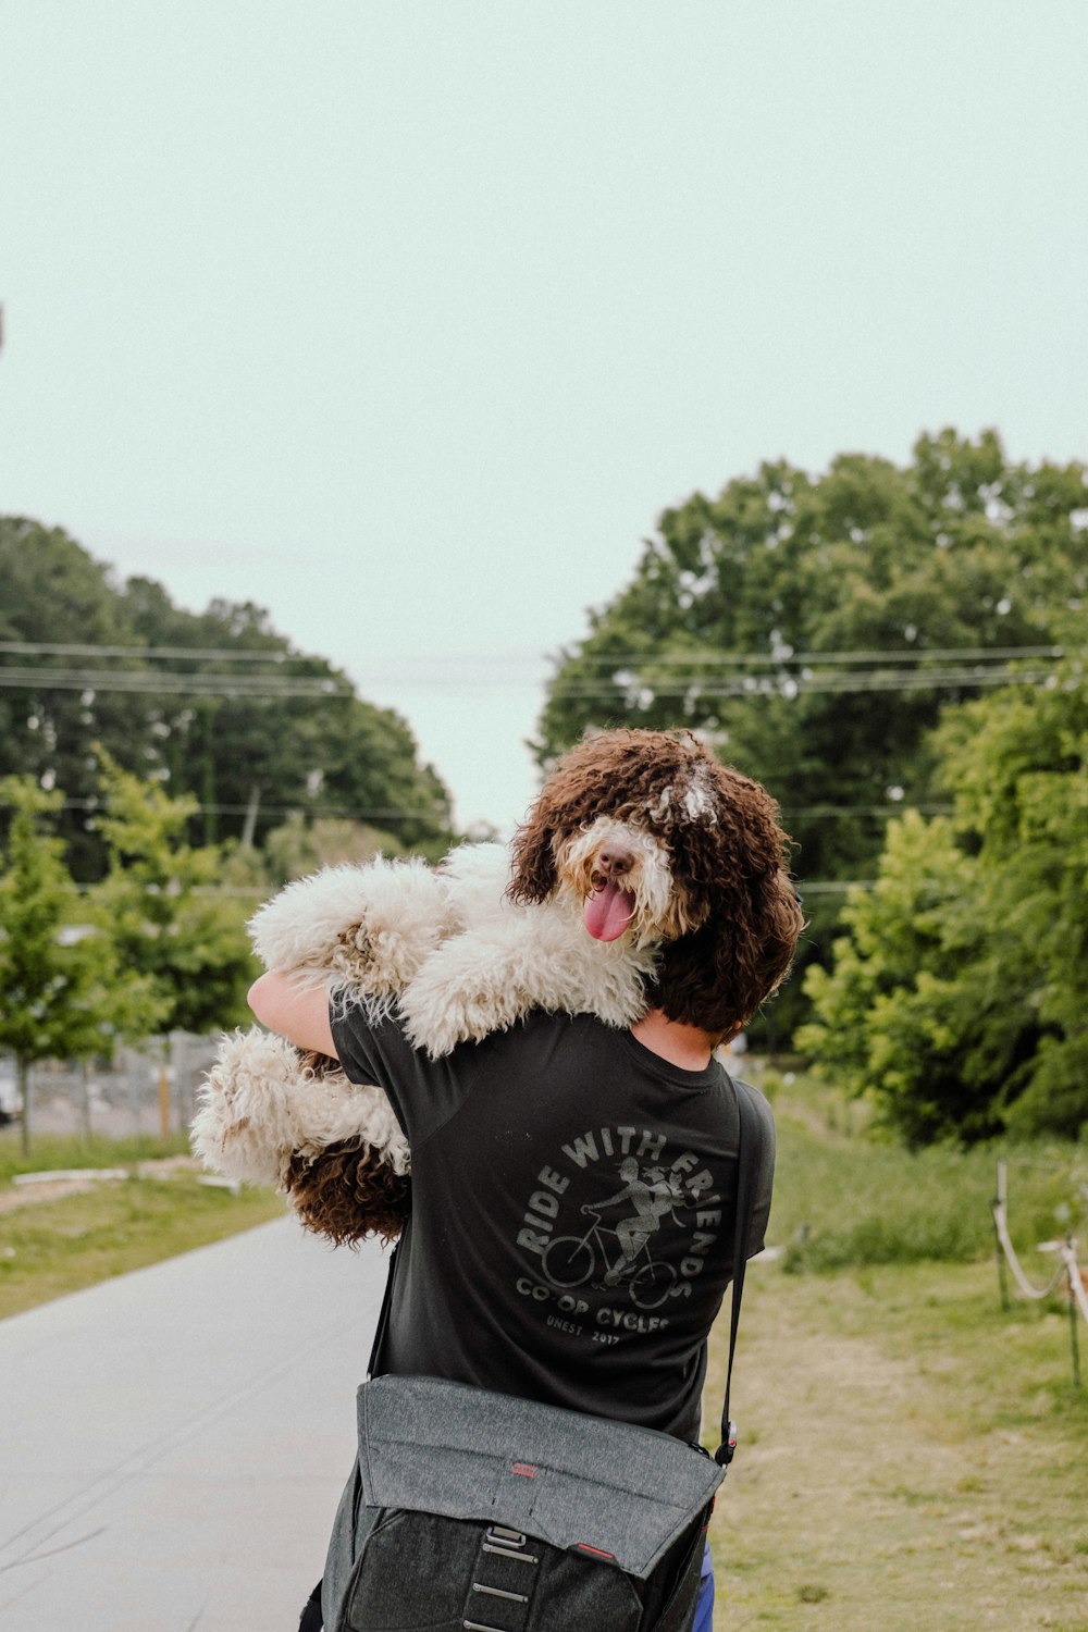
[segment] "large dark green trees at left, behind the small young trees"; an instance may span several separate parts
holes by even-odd
[[[96,795],[90,744],[139,777],[199,801],[189,837],[256,842],[290,811],[362,818],[395,844],[440,852],[449,844],[449,793],[419,762],[406,721],[354,695],[325,658],[292,650],[253,602],[212,601],[201,614],[175,607],[161,584],[117,584],[59,529],[0,517],[0,640],[134,648],[135,656],[0,654],[0,664],[39,671],[41,682],[0,692],[0,772],[62,787],[60,832],[77,878],[101,875],[101,842],[85,811]],[[147,648],[175,648],[166,659]],[[188,656],[192,651],[194,656]],[[199,656],[197,653],[210,653]],[[245,661],[238,661],[243,656]],[[103,689],[109,671],[144,677],[160,671],[246,681],[307,682],[316,695],[225,695]],[[59,687],[64,671],[72,687]],[[96,679],[101,676],[100,682]],[[78,681],[83,681],[80,685]]]

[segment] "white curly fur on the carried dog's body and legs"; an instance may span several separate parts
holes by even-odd
[[[664,902],[667,860],[646,836],[638,845],[648,854],[630,880],[633,893],[639,899],[644,875],[654,904]],[[266,968],[325,986],[333,1000],[362,1002],[374,1018],[398,1002],[408,1038],[432,1058],[532,1009],[631,1025],[657,958],[652,912],[639,911],[638,934],[594,940],[582,927],[589,885],[579,870],[551,901],[515,906],[506,898],[509,855],[498,844],[462,845],[436,870],[414,858],[333,867],[261,907],[253,942]],[[192,1147],[207,1167],[284,1186],[294,1155],[312,1160],[349,1139],[398,1173],[408,1170],[403,1133],[380,1089],[357,1087],[341,1072],[315,1074],[289,1043],[256,1027],[223,1040],[192,1123]]]

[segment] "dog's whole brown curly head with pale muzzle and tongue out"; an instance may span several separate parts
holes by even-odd
[[[564,754],[511,845],[509,894],[582,902],[597,940],[659,942],[659,1007],[724,1031],[803,929],[778,806],[687,731],[602,731]]]

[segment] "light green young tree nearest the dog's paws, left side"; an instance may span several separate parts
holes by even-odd
[[[96,889],[101,922],[124,969],[150,981],[165,1033],[206,1033],[245,1023],[253,961],[245,937],[246,899],[223,896],[223,854],[192,849],[191,798],[170,798],[106,754],[98,829],[109,871]]]

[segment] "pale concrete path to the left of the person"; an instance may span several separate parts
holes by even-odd
[[[0,1322],[0,1632],[295,1632],[385,1265],[284,1219]]]

